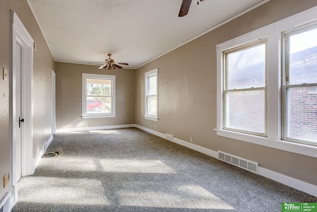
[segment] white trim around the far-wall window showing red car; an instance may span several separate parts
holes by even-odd
[[[86,79],[87,78],[103,78],[103,79],[111,79],[111,113],[86,113]],[[115,117],[115,75],[106,75],[106,74],[87,74],[82,73],[82,118],[112,118]]]

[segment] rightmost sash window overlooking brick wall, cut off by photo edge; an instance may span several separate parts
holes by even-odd
[[[286,140],[317,143],[317,25],[284,33],[284,133]]]

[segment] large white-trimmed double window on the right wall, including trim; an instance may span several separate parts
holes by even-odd
[[[317,158],[316,13],[216,45],[218,136]]]

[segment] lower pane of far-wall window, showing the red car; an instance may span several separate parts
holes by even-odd
[[[86,113],[111,112],[111,97],[87,97]]]

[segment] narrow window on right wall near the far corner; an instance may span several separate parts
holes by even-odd
[[[158,68],[145,73],[145,116],[158,121]]]

